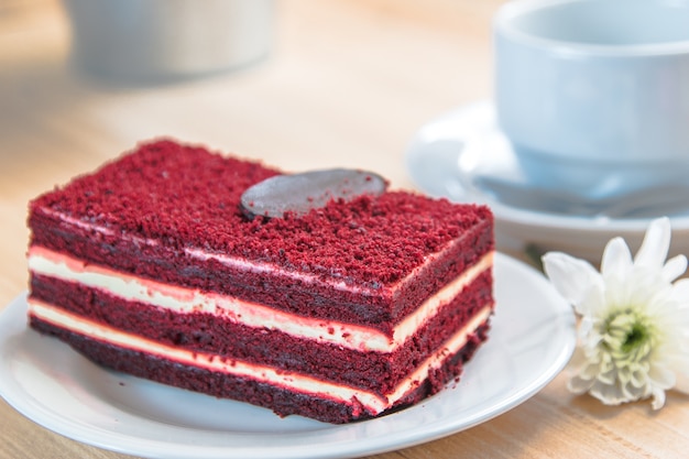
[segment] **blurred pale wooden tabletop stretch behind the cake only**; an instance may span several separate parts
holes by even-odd
[[[17,239],[0,260],[17,269],[0,276],[0,302],[24,285],[25,203],[141,140],[172,135],[291,171],[368,167],[411,187],[404,151],[416,130],[490,96],[500,3],[275,0],[264,58],[134,85],[74,68],[62,1],[2,0],[0,221]]]

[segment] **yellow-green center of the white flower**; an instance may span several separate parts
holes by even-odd
[[[652,338],[646,317],[632,308],[613,313],[605,320],[603,342],[615,359],[642,361],[650,352]]]

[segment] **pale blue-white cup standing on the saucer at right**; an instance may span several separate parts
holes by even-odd
[[[515,0],[494,46],[497,123],[534,185],[687,181],[689,0]]]

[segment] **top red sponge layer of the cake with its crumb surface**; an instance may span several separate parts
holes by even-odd
[[[302,218],[247,219],[238,205],[241,192],[275,173],[168,141],[145,144],[33,201],[31,243],[139,276],[381,329],[493,250],[485,207],[403,192],[331,203]],[[415,273],[458,238],[431,269]],[[266,277],[194,258],[194,250],[308,274],[315,282]],[[413,273],[413,283],[400,284]],[[332,282],[365,292],[333,289]]]

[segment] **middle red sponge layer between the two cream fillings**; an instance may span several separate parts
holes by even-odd
[[[483,307],[492,306],[491,285],[491,272],[483,272],[392,353],[344,349],[275,330],[256,332],[253,328],[209,314],[173,315],[41,275],[32,277],[31,299],[59,305],[65,310],[165,345],[229,356],[385,394],[455,330]]]

